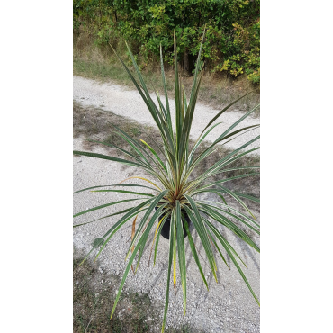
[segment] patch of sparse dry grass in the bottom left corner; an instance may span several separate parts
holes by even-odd
[[[101,273],[96,264],[85,262],[83,257],[73,261],[73,331],[130,332],[151,331],[149,317],[157,318],[148,294],[121,293],[121,300],[110,320],[115,292],[120,284],[117,276]]]

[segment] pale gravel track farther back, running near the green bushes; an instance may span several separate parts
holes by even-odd
[[[147,123],[149,125],[156,126],[153,121],[146,104],[143,102],[141,96],[137,91],[128,90],[121,85],[114,85],[111,83],[99,83],[97,81],[87,79],[81,76],[73,77],[73,99],[76,102],[82,103],[84,106],[94,106],[105,111],[111,111],[116,114],[120,114],[125,117],[129,117],[135,121],[141,123]],[[154,102],[157,103],[155,98]],[[162,102],[165,101],[164,96],[161,96]],[[175,110],[175,100],[170,100],[171,112]],[[193,126],[191,130],[191,136],[193,139],[197,139],[201,134],[204,126],[211,121],[214,115],[216,115],[220,110],[213,109],[202,103],[197,103],[194,117]],[[175,112],[172,112],[174,115]],[[244,115],[243,112],[229,111],[225,112],[218,121],[222,123],[217,126],[211,133],[206,137],[207,140],[213,141],[217,139],[222,130],[228,129],[229,125],[233,124],[235,121]],[[175,117],[173,119],[175,124]],[[235,130],[256,125],[259,123],[258,118],[247,117],[245,121],[242,121]],[[244,135],[239,136],[237,139],[230,141],[226,144],[227,148],[238,148],[242,144],[246,143],[250,139],[254,139],[259,134],[259,129],[251,130]],[[259,140],[253,143],[248,148],[255,148],[259,146]],[[259,150],[255,153],[259,154]]]

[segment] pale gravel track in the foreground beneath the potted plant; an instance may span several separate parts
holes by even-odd
[[[82,150],[82,141],[74,139],[74,148]],[[103,148],[94,148],[94,152],[107,153]],[[89,186],[99,184],[118,184],[121,180],[131,175],[141,175],[137,169],[130,166],[121,166],[112,161],[98,160],[91,157],[74,157],[74,190],[83,189]],[[101,172],[102,171],[102,172]],[[135,174],[134,174],[135,173]],[[133,183],[140,183],[140,180],[133,180]],[[138,196],[139,197],[139,196]],[[113,202],[116,200],[128,198],[123,193],[76,193],[74,195],[74,213],[84,211],[94,206]],[[131,207],[132,204],[124,202],[121,210]],[[95,220],[112,212],[118,211],[120,208],[115,206],[107,207],[103,210],[93,211],[91,213],[79,216],[75,219],[75,224],[84,223],[86,221]],[[259,213],[257,212],[257,217]],[[117,221],[117,217],[105,220],[99,220],[94,223],[73,229],[73,241],[76,248],[87,253],[91,249],[91,244],[95,238],[100,238],[112,227]],[[220,230],[222,230],[219,227]],[[252,285],[255,293],[260,299],[259,293],[259,255],[247,244],[238,240],[228,230],[223,230],[229,239],[229,242],[238,251],[248,268],[244,268],[249,283]],[[122,276],[125,269],[124,257],[130,246],[131,221],[128,222],[119,232],[112,238],[112,241],[104,247],[102,255],[99,257],[100,265],[106,272],[112,275]],[[192,232],[193,238],[196,239],[196,233]],[[254,240],[259,243],[258,238]],[[163,313],[163,304],[166,295],[166,272],[168,257],[168,241],[160,238],[157,264],[148,267],[148,256],[150,252],[152,237],[149,238],[148,247],[145,251],[138,274],[133,276],[130,272],[125,284],[126,291],[130,289],[134,292],[149,293],[154,306]],[[186,266],[187,266],[187,311],[183,316],[183,296],[181,285],[179,283],[179,274],[177,279],[177,294],[170,293],[170,306],[167,316],[166,325],[169,327],[181,327],[183,324],[189,323],[198,331],[202,329],[205,332],[237,332],[249,333],[259,332],[259,307],[251,293],[248,291],[246,284],[235,266],[229,266],[231,270],[217,256],[217,265],[219,268],[219,284],[216,284],[212,275],[210,275],[209,267],[202,262],[202,269],[208,278],[210,291],[207,292],[201,275],[193,261],[191,248],[187,241],[186,247]],[[203,255],[202,247],[198,247],[199,252]],[[157,332],[160,329],[162,318],[157,322]]]

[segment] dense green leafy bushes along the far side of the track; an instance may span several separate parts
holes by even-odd
[[[157,61],[160,44],[172,65],[175,31],[179,61],[188,73],[206,26],[206,69],[259,83],[259,0],[74,0],[73,14],[75,35],[89,33],[101,46],[128,40],[140,67]]]

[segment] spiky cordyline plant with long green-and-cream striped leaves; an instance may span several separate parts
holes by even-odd
[[[203,39],[204,35],[202,37],[202,42]],[[211,222],[211,220],[215,220],[218,223],[220,223],[220,225],[230,229],[238,236],[238,238],[241,238],[249,246],[255,248],[259,252],[257,244],[247,236],[246,232],[238,228],[238,225],[232,221],[232,220],[237,220],[239,223],[243,224],[247,228],[252,229],[253,231],[257,232],[257,234],[259,234],[259,225],[257,224],[255,217],[249,211],[247,205],[241,200],[241,198],[244,197],[253,202],[259,202],[259,200],[247,194],[235,193],[223,186],[223,183],[228,182],[235,178],[258,175],[257,172],[252,172],[258,166],[230,167],[229,165],[238,160],[239,158],[246,156],[250,152],[257,150],[258,148],[252,148],[247,151],[245,151],[244,149],[247,148],[247,146],[249,146],[257,139],[259,139],[259,136],[257,136],[257,138],[255,139],[251,139],[246,144],[228,153],[226,156],[221,157],[218,162],[208,167],[204,172],[202,172],[201,175],[197,175],[195,179],[190,177],[195,167],[198,166],[205,158],[209,157],[211,153],[215,150],[215,148],[217,148],[217,144],[227,143],[229,142],[229,140],[235,139],[238,135],[243,134],[247,130],[253,130],[258,127],[258,125],[254,125],[242,128],[240,130],[233,130],[241,121],[246,119],[252,112],[254,112],[255,109],[257,109],[257,107],[247,112],[238,121],[236,121],[233,125],[231,125],[228,130],[223,131],[220,134],[220,137],[216,139],[214,142],[212,142],[208,148],[205,148],[201,153],[194,154],[197,148],[201,146],[202,141],[203,139],[205,139],[207,134],[211,132],[213,128],[219,125],[219,123],[214,123],[214,122],[220,117],[220,115],[222,115],[223,112],[226,112],[229,109],[229,107],[232,104],[236,103],[240,98],[237,101],[230,103],[215,117],[213,117],[211,121],[209,121],[207,126],[202,130],[202,134],[200,135],[200,137],[196,140],[193,148],[190,149],[189,148],[190,130],[193,121],[195,103],[197,101],[199,86],[202,79],[202,71],[200,70],[202,43],[196,63],[195,73],[193,76],[192,91],[190,99],[188,100],[184,92],[184,87],[181,85],[180,76],[178,75],[177,60],[176,60],[177,52],[176,52],[176,42],[175,42],[175,135],[174,135],[174,127],[171,121],[171,111],[170,111],[169,101],[167,97],[162,49],[160,51],[160,58],[161,58],[162,79],[164,84],[164,93],[166,95],[165,105],[161,102],[158,94],[157,94],[158,105],[153,102],[153,100],[150,97],[150,94],[148,93],[147,85],[145,84],[139,72],[139,67],[130,49],[129,53],[135,71],[139,76],[139,82],[134,78],[134,76],[132,76],[129,68],[126,67],[121,58],[119,58],[119,56],[117,55],[117,53],[116,55],[120,59],[121,64],[126,69],[134,85],[137,87],[139,94],[146,103],[151,116],[154,118],[154,121],[156,122],[158,130],[160,132],[161,139],[163,140],[163,147],[162,148],[159,147],[158,144],[154,142],[153,139],[151,139],[152,142],[154,142],[155,145],[157,146],[157,149],[154,149],[147,142],[143,140],[141,140],[141,142],[138,142],[137,140],[132,139],[128,134],[117,128],[118,134],[121,136],[121,138],[127,141],[128,144],[130,144],[130,147],[132,148],[131,151],[127,151],[125,149],[116,147],[112,144],[106,144],[104,142],[99,142],[99,143],[119,149],[123,154],[130,157],[129,159],[121,159],[121,158],[110,157],[101,154],[94,154],[90,152],[82,152],[82,151],[74,151],[74,154],[84,155],[87,157],[103,158],[114,162],[119,162],[124,165],[135,166],[144,170],[146,173],[151,175],[152,178],[155,178],[157,181],[155,179],[152,180],[139,176],[134,176],[130,178],[142,179],[148,182],[149,185],[145,186],[139,184],[122,184],[121,182],[121,184],[89,187],[84,190],[77,191],[75,193],[86,190],[92,190],[98,187],[107,187],[107,186],[127,186],[127,187],[136,186],[136,187],[142,187],[146,191],[148,188],[149,190],[154,191],[154,193],[131,192],[131,191],[124,191],[117,189],[94,190],[95,192],[118,192],[118,193],[128,193],[136,195],[139,194],[141,198],[140,199],[131,198],[128,200],[106,203],[103,204],[102,206],[94,207],[87,211],[81,211],[74,216],[78,216],[87,213],[89,211],[102,209],[104,207],[111,206],[113,204],[118,204],[121,202],[135,202],[135,201],[140,202],[138,204],[135,204],[133,207],[129,209],[118,211],[116,213],[113,213],[112,215],[107,215],[103,217],[102,219],[117,214],[125,213],[121,217],[121,219],[118,220],[112,226],[112,228],[105,233],[105,235],[103,235],[103,237],[101,238],[102,240],[98,244],[95,244],[94,247],[89,252],[90,254],[95,248],[100,247],[99,252],[97,254],[98,257],[101,251],[103,250],[103,247],[105,247],[105,245],[110,241],[112,236],[119,229],[121,229],[121,227],[127,221],[134,219],[132,222],[132,239],[126,256],[126,259],[129,258],[129,260],[121,280],[119,292],[117,293],[117,297],[114,302],[111,317],[115,311],[115,307],[121,296],[121,290],[123,285],[125,284],[127,275],[130,272],[130,267],[132,266],[133,261],[135,257],[137,257],[137,255],[138,257],[136,260],[136,268],[134,269],[132,267],[132,269],[133,271],[136,272],[139,267],[139,262],[145,251],[145,247],[147,245],[147,240],[150,232],[154,232],[154,240],[151,248],[153,248],[155,244],[155,254],[154,254],[154,265],[155,265],[158,240],[161,234],[161,230],[166,221],[168,220],[170,225],[168,229],[170,240],[169,240],[169,256],[168,256],[167,283],[166,283],[166,304],[165,304],[164,319],[162,325],[162,332],[163,332],[166,325],[166,313],[169,302],[170,280],[172,278],[171,271],[173,271],[174,288],[176,284],[176,261],[178,261],[179,265],[180,280],[184,295],[184,314],[186,310],[186,265],[185,265],[184,231],[188,235],[187,239],[193,253],[194,261],[198,266],[200,274],[202,275],[202,280],[208,289],[208,284],[205,276],[203,275],[202,266],[198,257],[198,252],[189,229],[189,224],[190,224],[189,221],[193,223],[193,228],[196,230],[200,238],[202,247],[204,249],[205,255],[208,259],[209,266],[211,268],[211,272],[215,277],[216,282],[218,281],[216,275],[217,266],[213,255],[213,247],[215,247],[218,250],[218,252],[220,253],[220,257],[223,259],[224,263],[228,266],[225,257],[223,257],[220,251],[220,246],[221,246],[224,248],[224,250],[227,252],[234,265],[237,267],[239,274],[242,276],[245,283],[247,284],[248,289],[258,302],[257,296],[253,292],[251,286],[248,284],[246,276],[243,274],[240,266],[238,265],[237,258],[242,262],[242,264],[244,264],[243,261],[238,256],[235,249],[229,244],[227,239],[223,237],[219,229],[217,229],[215,225]],[[248,172],[248,170],[250,170],[250,172]],[[211,181],[211,182],[209,181],[209,178],[211,176],[223,175],[223,173],[229,171],[241,171],[243,174],[229,178],[221,178],[218,181]],[[198,200],[195,198],[195,196],[199,193],[215,193],[217,197],[220,198],[221,202],[219,201],[219,199],[217,201]],[[245,208],[248,214],[244,214],[236,210],[233,206],[230,206],[224,198],[226,194],[231,196],[240,204],[240,206]],[[139,222],[136,222],[138,214],[140,212],[142,213],[144,212],[144,215]],[[135,230],[135,225],[138,226],[136,230]],[[76,225],[75,227],[77,226],[78,225]],[[86,257],[88,257],[89,254]]]

